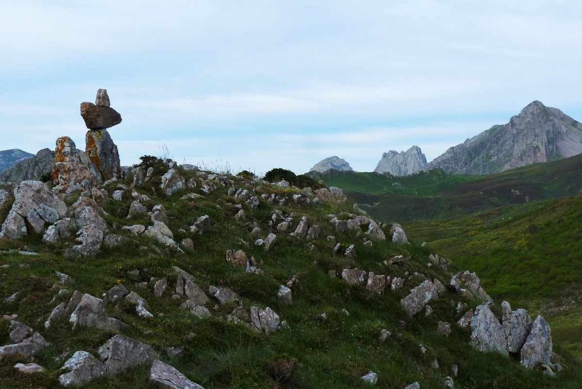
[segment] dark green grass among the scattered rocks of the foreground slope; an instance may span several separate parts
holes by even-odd
[[[293,195],[299,194],[298,189],[282,189],[229,176],[235,188],[248,189],[261,199],[258,207],[251,207],[227,194],[230,183],[221,185],[213,181],[217,189],[207,194],[201,190],[200,183],[212,179],[211,176],[181,173],[197,180],[197,189],[183,189],[166,196],[157,187],[159,178],[136,189],[151,197],[146,204],[149,209],[155,204],[164,205],[168,226],[177,242],[192,239],[194,248],[184,247],[184,253],[168,249],[147,236],[133,236],[121,228],[137,223],[151,224],[143,215],[126,217],[133,201],[129,191],[122,200],[103,205],[112,231],[132,240],[115,249],[103,249],[97,256],[83,259],[63,256],[73,238],[56,245],[42,244],[37,235],[22,241],[0,240],[0,318],[17,314],[17,320],[40,331],[51,343],[34,358],[0,360],[1,388],[58,388],[58,369],[74,351],[83,349],[97,355],[98,347],[111,338],[112,333],[90,328],[71,330],[67,317],[48,330],[42,323],[54,306],[69,298],[67,292],[59,294],[59,288],[101,296],[119,283],[143,296],[148,310],[154,314],[150,318],[139,317],[127,302],[107,305],[111,317],[127,324],[121,333],[153,346],[162,359],[207,389],[364,388],[369,386],[360,377],[370,370],[378,373],[378,388],[402,388],[414,381],[422,388],[442,388],[443,378],[453,376],[454,365],[459,367],[459,374],[454,377],[457,388],[579,387],[582,368],[559,342],[554,350],[562,356],[565,370],[556,378],[538,370],[523,369],[519,359],[475,351],[469,345],[469,330],[455,324],[460,317],[455,307],[458,302],[474,307],[477,300],[467,300],[446,291],[441,298],[431,301],[433,312],[430,316],[424,311],[414,317],[404,312],[400,299],[425,278],[437,278],[443,284],[450,280],[447,271],[427,266],[428,254],[434,253],[433,247],[448,253],[448,247],[439,245],[440,241],[448,239],[447,236],[430,235],[432,230],[427,229],[428,238],[421,238],[420,225],[410,225],[409,235],[414,240],[434,242],[421,247],[372,240],[369,246],[364,241],[363,231],[348,230],[338,234],[328,221],[329,214],[348,217],[346,212],[353,212],[349,202],[296,202]],[[118,184],[113,183],[105,189],[111,196]],[[200,196],[181,198],[193,191]],[[283,201],[277,204],[267,201],[271,195]],[[311,225],[321,227],[320,238],[306,241],[288,232],[274,231],[269,222],[275,210],[290,215],[295,224],[306,216]],[[239,217],[235,217],[237,214]],[[201,234],[190,232],[190,225],[201,215],[209,215],[211,225]],[[255,237],[251,231],[255,227],[260,229],[262,238],[269,232],[278,235],[268,251],[253,244]],[[383,227],[386,233],[389,227]],[[353,244],[356,258],[333,254],[329,235],[336,237],[342,251]],[[33,250],[38,255],[25,256],[10,251],[13,249]],[[242,249],[247,256],[254,257],[260,273],[249,273],[226,263],[225,252],[229,249]],[[402,255],[404,260],[385,263],[396,255]],[[452,253],[449,257],[457,260]],[[193,275],[204,291],[210,285],[231,288],[247,310],[250,306],[271,307],[289,328],[272,334],[256,333],[244,323],[227,319],[238,303],[221,305],[215,299],[205,305],[212,313],[205,319],[179,309],[183,300],[172,298],[171,289],[178,277],[172,266]],[[350,286],[338,277],[343,268],[356,267],[403,277],[404,287],[377,294],[359,285]],[[55,270],[69,274],[76,283],[54,287],[58,285]],[[162,277],[168,279],[168,290],[157,297],[152,292],[152,282]],[[292,287],[293,305],[287,306],[278,300],[277,291],[279,285],[293,277],[297,280]],[[16,292],[19,293],[16,299],[6,299]],[[501,293],[501,289],[495,292]],[[439,320],[452,324],[449,337],[437,334]],[[378,337],[384,329],[391,335],[381,342]],[[0,344],[8,343],[8,321],[0,319]],[[421,351],[421,345],[425,352]],[[182,355],[164,356],[164,349],[179,346],[184,347]],[[439,367],[433,366],[435,360]],[[46,367],[48,373],[25,375],[12,367],[16,362],[33,361]],[[104,376],[83,387],[144,388],[148,385],[148,373],[148,366],[137,367],[120,376]]]

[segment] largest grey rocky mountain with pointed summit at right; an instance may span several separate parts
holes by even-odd
[[[450,147],[428,168],[456,174],[491,174],[582,153],[582,123],[534,101],[513,116]]]

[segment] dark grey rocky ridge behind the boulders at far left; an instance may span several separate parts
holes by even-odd
[[[2,153],[0,151],[0,153]],[[28,153],[26,153],[28,154]],[[0,181],[17,185],[21,181],[38,181],[51,173],[54,153],[48,148],[39,150],[36,155],[16,161],[0,173]],[[0,167],[1,169],[1,167]]]

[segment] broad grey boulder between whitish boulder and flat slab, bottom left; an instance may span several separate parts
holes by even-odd
[[[151,346],[123,335],[115,335],[98,352],[107,374],[111,375],[123,373],[131,367],[145,365],[158,358],[158,353]]]

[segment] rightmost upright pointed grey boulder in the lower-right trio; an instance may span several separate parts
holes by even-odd
[[[526,343],[521,348],[521,365],[533,368],[550,363],[552,356],[552,333],[544,317],[538,316],[531,326]]]

